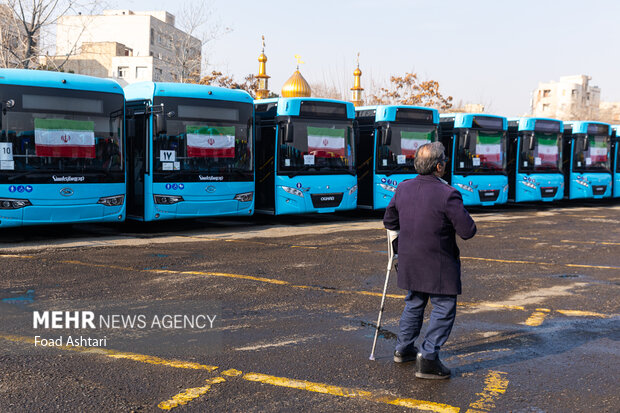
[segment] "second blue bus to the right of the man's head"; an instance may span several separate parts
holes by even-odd
[[[508,199],[512,202],[564,198],[561,120],[508,120]]]

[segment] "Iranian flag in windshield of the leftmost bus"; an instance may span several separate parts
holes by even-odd
[[[37,156],[89,158],[96,156],[95,123],[69,119],[35,119]]]

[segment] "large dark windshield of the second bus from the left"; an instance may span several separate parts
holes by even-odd
[[[155,180],[252,173],[252,104],[161,99],[166,130],[153,137]]]

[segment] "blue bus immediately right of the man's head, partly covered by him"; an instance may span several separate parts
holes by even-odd
[[[507,123],[501,116],[474,113],[439,117],[439,139],[450,158],[444,179],[460,191],[465,205],[508,200]]]

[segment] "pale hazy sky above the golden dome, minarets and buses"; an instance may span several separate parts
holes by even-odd
[[[201,0],[186,0],[190,6]],[[108,8],[167,10],[183,2],[108,0]],[[417,72],[455,102],[490,113],[529,113],[539,82],[586,74],[602,101],[620,101],[620,2],[614,0],[212,0],[232,31],[209,43],[209,69],[242,80],[258,72],[265,35],[269,87],[280,92],[295,71],[310,84],[353,86],[360,53],[362,87]]]

